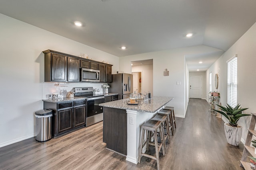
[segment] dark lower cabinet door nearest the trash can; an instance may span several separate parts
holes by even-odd
[[[73,108],[58,111],[58,133],[71,130],[73,127]]]

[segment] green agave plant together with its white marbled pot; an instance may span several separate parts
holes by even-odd
[[[225,135],[228,143],[230,145],[238,146],[242,137],[242,126],[238,126],[237,121],[240,117],[249,116],[248,114],[242,114],[242,111],[248,108],[242,109],[239,104],[234,108],[228,104],[226,107],[218,104],[216,105],[220,107],[221,111],[215,109],[214,111],[224,115],[229,120],[229,123],[224,123]]]

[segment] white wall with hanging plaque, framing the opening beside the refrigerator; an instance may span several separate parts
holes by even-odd
[[[193,47],[156,51],[120,57],[119,70],[132,72],[131,61],[153,59],[153,91],[154,96],[172,96],[174,99],[167,106],[175,107],[175,115],[185,117],[187,107],[187,77],[185,55],[205,53],[216,49],[204,45]],[[169,70],[169,76],[164,76],[164,69]],[[180,81],[181,85],[176,82]]]

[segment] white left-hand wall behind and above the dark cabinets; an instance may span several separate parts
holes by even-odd
[[[96,61],[113,64],[119,69],[119,58],[56,35],[44,29],[0,14],[0,147],[34,136],[34,112],[43,109],[45,94],[60,90],[44,81],[44,54],[52,49],[70,55],[87,54]],[[100,85],[81,83],[72,86]]]

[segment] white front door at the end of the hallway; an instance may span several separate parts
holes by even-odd
[[[189,98],[202,99],[202,76],[189,76]]]

